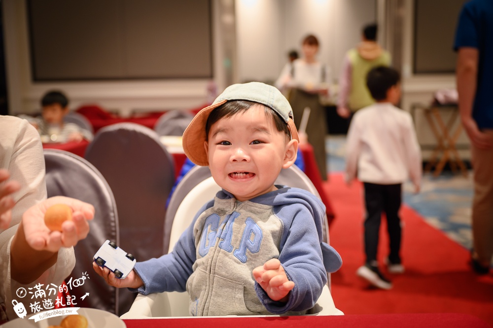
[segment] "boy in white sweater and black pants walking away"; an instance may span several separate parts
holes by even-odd
[[[421,152],[411,115],[394,106],[400,98],[399,73],[386,66],[375,67],[367,75],[367,86],[376,103],[354,114],[346,144],[347,182],[357,172],[365,189],[366,263],[356,273],[376,287],[390,289],[392,284],[377,263],[381,214],[386,213],[390,239],[388,271],[402,273],[401,186],[409,174],[419,192]]]

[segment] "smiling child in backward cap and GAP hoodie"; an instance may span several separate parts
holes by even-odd
[[[226,88],[183,134],[187,157],[208,165],[222,190],[195,215],[173,252],[138,262],[121,280],[96,263],[95,271],[111,286],[144,295],[186,290],[194,316],[306,313],[327,272],[342,262],[322,242],[322,202],[274,185],[296,159],[292,116],[274,87]]]

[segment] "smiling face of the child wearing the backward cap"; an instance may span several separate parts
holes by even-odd
[[[297,145],[276,129],[262,105],[219,119],[205,142],[212,177],[242,202],[276,190],[274,181],[294,163]]]

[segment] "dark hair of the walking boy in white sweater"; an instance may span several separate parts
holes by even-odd
[[[395,69],[387,66],[372,68],[366,75],[366,86],[375,100],[387,98],[387,90],[399,83],[400,75]]]

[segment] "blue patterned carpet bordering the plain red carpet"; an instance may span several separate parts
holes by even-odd
[[[328,172],[344,171],[345,144],[344,135],[327,137]],[[428,224],[465,248],[471,248],[471,172],[467,178],[450,172],[444,172],[437,178],[424,174],[419,194],[413,193],[411,182],[404,184],[403,190],[404,203],[420,213]]]

